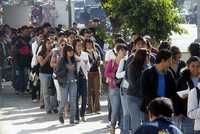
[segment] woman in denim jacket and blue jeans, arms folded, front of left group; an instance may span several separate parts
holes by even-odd
[[[60,86],[61,102],[59,105],[59,121],[64,123],[63,112],[64,106],[68,103],[70,105],[70,124],[75,122],[76,116],[76,97],[77,97],[77,62],[74,57],[74,50],[71,45],[66,45],[63,51],[55,74]]]

